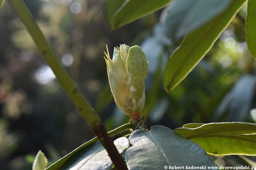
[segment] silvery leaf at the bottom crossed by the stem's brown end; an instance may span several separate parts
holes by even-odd
[[[114,144],[119,153],[123,153],[130,146],[130,142],[126,137],[118,138],[114,141]],[[110,170],[112,164],[106,149],[97,141],[74,153],[60,167],[60,170]]]

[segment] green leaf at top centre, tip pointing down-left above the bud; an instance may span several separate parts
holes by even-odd
[[[117,29],[136,19],[153,13],[170,3],[171,0],[126,0],[114,13],[111,19],[111,28]]]

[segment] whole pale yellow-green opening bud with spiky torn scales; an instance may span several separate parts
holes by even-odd
[[[111,60],[108,48],[105,61],[111,92],[119,109],[130,116],[130,121],[140,120],[145,104],[145,84],[148,61],[138,46],[122,44],[114,47]]]

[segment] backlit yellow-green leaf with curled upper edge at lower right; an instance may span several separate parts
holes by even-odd
[[[199,124],[195,124],[197,127]],[[256,124],[242,122],[184,125],[174,131],[212,155],[256,155]]]

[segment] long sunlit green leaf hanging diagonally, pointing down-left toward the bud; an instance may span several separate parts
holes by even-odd
[[[167,92],[174,89],[196,67],[245,2],[231,1],[225,11],[183,39],[164,70],[163,80]]]

